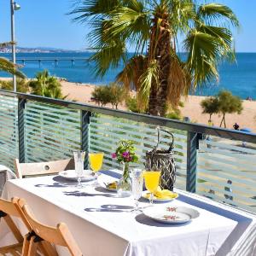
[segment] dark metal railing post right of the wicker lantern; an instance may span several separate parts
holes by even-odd
[[[187,183],[186,190],[195,193],[196,190],[196,159],[199,148],[198,134],[188,132],[187,137]]]

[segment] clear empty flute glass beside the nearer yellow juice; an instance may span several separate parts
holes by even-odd
[[[143,170],[138,168],[131,169],[131,193],[135,201],[134,211],[138,211],[138,200],[143,193]]]

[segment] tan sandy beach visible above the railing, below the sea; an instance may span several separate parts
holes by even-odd
[[[95,105],[95,102],[92,102],[90,97],[96,85],[61,81],[61,86],[62,94],[64,96],[68,95],[67,100]],[[209,115],[203,114],[200,106],[200,102],[204,98],[204,96],[188,96],[184,98],[184,107],[181,108],[183,117],[189,117],[192,122],[207,125]],[[240,128],[247,127],[252,129],[253,132],[256,132],[256,102],[243,101],[242,105],[243,111],[241,114],[226,115],[227,128],[232,129],[233,125],[237,123],[240,125]],[[112,108],[111,105],[107,105],[106,107]],[[119,109],[125,110],[125,104],[120,105]],[[213,124],[219,126],[221,118],[218,114],[212,115]]]

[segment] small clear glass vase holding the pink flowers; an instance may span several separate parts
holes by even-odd
[[[123,175],[117,183],[117,193],[120,197],[128,197],[131,195],[131,177],[129,171],[129,163],[122,163]]]

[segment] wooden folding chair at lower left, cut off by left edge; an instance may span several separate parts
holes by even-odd
[[[15,244],[6,246],[6,247],[0,247],[0,255],[21,255],[22,252],[22,244],[24,241],[23,236],[20,233],[20,230],[17,228],[15,222],[11,217],[17,217],[21,218],[20,212],[15,207],[15,199],[12,201],[6,201],[3,199],[0,199],[0,218],[3,218],[6,224],[9,226],[9,229],[12,231],[12,233],[15,236],[15,239],[18,241]],[[24,224],[26,225],[26,228],[28,230],[31,230],[30,224],[26,221],[26,218],[22,219]]]

